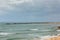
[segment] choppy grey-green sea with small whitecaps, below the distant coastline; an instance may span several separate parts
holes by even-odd
[[[59,34],[54,24],[0,24],[0,40],[44,40]]]

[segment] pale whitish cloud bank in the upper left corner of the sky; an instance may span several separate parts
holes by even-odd
[[[8,10],[14,10],[16,6],[29,3],[30,0],[0,0],[0,15]],[[4,13],[5,14],[5,13]]]

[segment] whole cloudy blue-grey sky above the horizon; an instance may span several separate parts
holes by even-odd
[[[0,22],[60,22],[60,0],[0,0]]]

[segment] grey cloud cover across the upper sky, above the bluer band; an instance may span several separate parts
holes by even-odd
[[[59,14],[60,0],[0,0],[0,9],[16,13]]]

